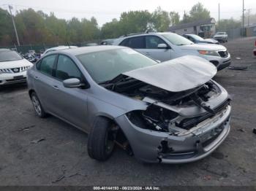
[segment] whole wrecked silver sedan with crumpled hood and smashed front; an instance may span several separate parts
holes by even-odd
[[[230,132],[230,97],[195,56],[157,61],[127,47],[49,53],[28,71],[39,117],[52,114],[89,133],[87,149],[107,160],[118,146],[147,163],[189,163]]]

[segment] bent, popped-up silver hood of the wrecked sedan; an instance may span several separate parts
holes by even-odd
[[[170,92],[180,92],[208,82],[217,74],[217,68],[204,58],[186,55],[123,74]]]

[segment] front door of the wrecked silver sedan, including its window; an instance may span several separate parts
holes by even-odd
[[[86,130],[87,128],[87,95],[86,90],[80,87],[67,88],[63,80],[78,78],[83,82],[83,74],[67,55],[59,55],[56,63],[55,79],[53,82],[56,102],[56,114],[71,122],[73,125]]]

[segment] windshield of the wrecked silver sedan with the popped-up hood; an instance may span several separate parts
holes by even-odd
[[[156,61],[135,50],[124,48],[77,55],[97,83],[108,82],[126,71],[157,64]]]

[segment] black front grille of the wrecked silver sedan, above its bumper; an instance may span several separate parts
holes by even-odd
[[[220,112],[223,109],[225,109],[227,107],[227,105],[230,104],[230,100],[227,99],[227,101],[223,102],[222,104],[220,104],[219,106],[217,106],[214,109],[214,112]],[[204,120],[208,119],[209,117],[212,117],[213,115],[210,113],[206,113],[200,117],[194,117],[194,118],[187,118],[184,120],[181,120],[181,122],[179,122],[178,124],[176,124],[179,128],[184,128],[186,130],[189,130],[190,128],[195,127],[195,125],[197,125],[200,122],[203,122]]]

